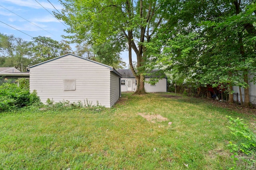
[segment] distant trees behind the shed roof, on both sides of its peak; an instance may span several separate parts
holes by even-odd
[[[68,41],[56,41],[50,37],[34,37],[32,41],[25,41],[14,35],[0,33],[0,67],[15,67],[26,72],[26,67],[38,64],[67,53],[74,53],[103,64],[124,68],[120,51],[107,51],[110,44],[91,46],[86,43],[77,44],[72,51]]]

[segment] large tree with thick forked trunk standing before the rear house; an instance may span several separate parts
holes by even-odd
[[[163,1],[164,2],[164,1]],[[163,22],[161,0],[66,0],[59,19],[70,25],[66,36],[73,42],[86,41],[92,45],[102,45],[109,39],[118,46],[128,44],[129,64],[137,80],[135,94],[145,94],[145,61],[148,59],[145,43],[151,41],[156,30]],[[123,43],[126,42],[126,43]],[[137,70],[132,63],[132,50],[136,54]]]

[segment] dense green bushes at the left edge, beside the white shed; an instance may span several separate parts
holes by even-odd
[[[4,83],[0,86],[0,111],[16,109],[38,104],[40,99],[36,92],[29,93],[27,88],[18,87],[14,83]]]

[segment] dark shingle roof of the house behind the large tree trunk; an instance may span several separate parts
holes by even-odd
[[[130,69],[119,69],[117,71],[122,75],[122,78],[135,78],[135,76],[132,74],[132,70]],[[163,72],[159,72],[159,70],[152,70],[148,75],[145,75],[145,78],[154,77],[167,78],[167,76]]]

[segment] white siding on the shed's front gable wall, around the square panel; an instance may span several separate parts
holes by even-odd
[[[107,66],[67,55],[30,68],[30,91],[36,90],[43,103],[48,98],[54,102],[87,99],[110,107],[110,72]],[[63,90],[65,79],[76,80],[75,90]]]

